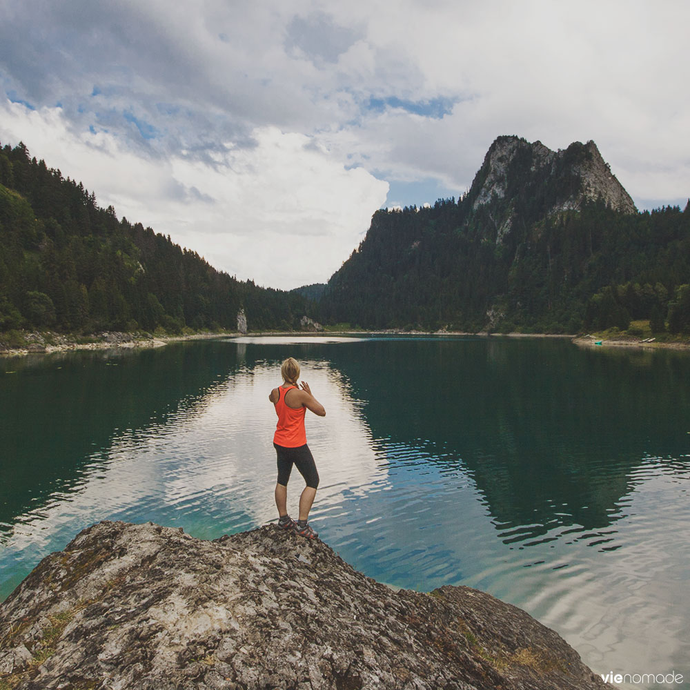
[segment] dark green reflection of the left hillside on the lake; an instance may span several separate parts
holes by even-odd
[[[55,491],[70,493],[87,464],[105,462],[118,433],[165,426],[200,404],[234,370],[234,354],[177,344],[0,360],[0,538]]]

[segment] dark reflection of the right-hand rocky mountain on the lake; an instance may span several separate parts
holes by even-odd
[[[605,529],[649,457],[687,453],[687,362],[679,376],[549,342],[407,342],[395,358],[366,345],[342,369],[375,437],[429,440],[428,460],[468,472],[506,538]]]

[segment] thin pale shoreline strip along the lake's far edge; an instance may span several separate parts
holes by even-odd
[[[348,330],[348,331],[256,331],[239,333],[233,331],[221,331],[215,333],[187,333],[184,335],[161,335],[151,333],[120,333],[106,331],[94,335],[81,336],[62,333],[38,333],[21,332],[21,345],[8,345],[3,342],[3,334],[0,333],[0,356],[17,357],[32,354],[50,354],[54,352],[66,352],[72,350],[107,350],[110,348],[157,348],[170,342],[188,340],[204,340],[219,337],[262,337],[280,335],[436,335],[436,336],[462,336],[462,337],[491,337],[491,338],[559,338],[569,339],[580,347],[634,347],[634,348],[668,348],[673,350],[690,349],[690,339],[674,341],[657,341],[649,338],[640,338],[631,335],[605,335],[588,334],[575,335],[573,333],[467,333],[465,331],[402,331],[395,328],[382,330]]]

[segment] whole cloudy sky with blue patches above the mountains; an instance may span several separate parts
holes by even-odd
[[[0,143],[238,279],[325,282],[500,135],[690,196],[686,0],[0,0]]]

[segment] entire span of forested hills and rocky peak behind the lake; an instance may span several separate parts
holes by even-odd
[[[319,313],[313,300],[320,299]],[[499,137],[466,195],[379,210],[328,286],[241,282],[0,148],[0,331],[364,328],[690,333],[690,203],[638,213],[593,142]]]

